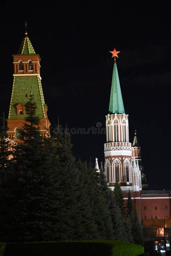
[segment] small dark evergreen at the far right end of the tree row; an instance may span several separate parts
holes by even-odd
[[[142,234],[142,225],[139,220],[136,208],[134,208],[132,213],[132,235],[133,243],[144,245],[144,239]]]

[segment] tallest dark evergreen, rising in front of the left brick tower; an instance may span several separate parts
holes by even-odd
[[[1,240],[52,240],[57,232],[58,194],[56,148],[39,131],[36,104],[30,95],[25,105],[23,143],[13,150],[11,165],[0,188]],[[52,149],[52,148],[51,148]],[[60,206],[59,206],[60,205]]]

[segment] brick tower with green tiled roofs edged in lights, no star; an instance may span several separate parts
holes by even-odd
[[[14,80],[8,116],[8,135],[12,140],[19,140],[19,129],[25,122],[25,104],[30,92],[34,95],[37,114],[40,118],[40,132],[44,135],[51,123],[47,116],[40,77],[40,56],[36,54],[25,32],[25,37],[16,55],[13,55]]]

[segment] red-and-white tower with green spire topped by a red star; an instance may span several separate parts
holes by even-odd
[[[122,93],[116,64],[118,51],[111,51],[114,57],[109,113],[106,116],[105,175],[107,183],[114,189],[119,182],[122,191],[141,191],[141,170],[139,159],[132,156],[129,142],[128,114],[124,111]],[[133,149],[135,151],[135,149]],[[140,151],[140,149],[139,149]],[[132,163],[133,157],[133,163]]]

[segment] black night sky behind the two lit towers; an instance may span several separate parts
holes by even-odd
[[[19,4],[18,4],[19,5]],[[1,113],[8,115],[13,83],[12,54],[28,36],[41,57],[41,77],[52,125],[105,127],[115,47],[120,86],[135,128],[150,188],[171,190],[170,27],[168,6],[116,6],[59,1],[35,6],[1,6]],[[72,135],[76,158],[104,162],[104,134]]]

